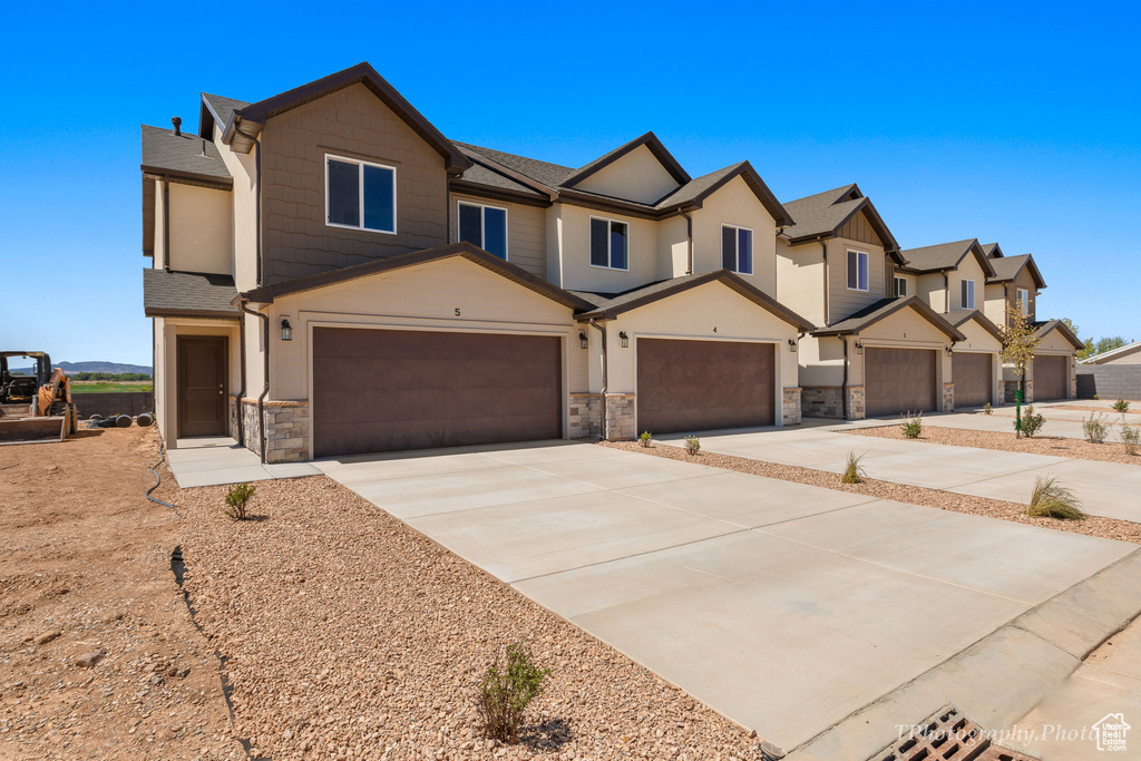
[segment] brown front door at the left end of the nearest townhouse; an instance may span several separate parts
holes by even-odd
[[[178,436],[226,435],[226,339],[178,337]]]

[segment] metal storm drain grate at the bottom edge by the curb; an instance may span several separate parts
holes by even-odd
[[[978,724],[956,709],[945,707],[868,761],[1037,760],[993,744]]]

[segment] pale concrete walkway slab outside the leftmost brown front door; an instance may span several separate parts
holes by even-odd
[[[177,448],[167,450],[167,462],[181,488],[321,473],[308,462],[262,464],[261,458],[228,436],[180,438]]]

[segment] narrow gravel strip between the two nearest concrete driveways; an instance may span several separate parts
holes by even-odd
[[[898,431],[898,427],[892,427]],[[863,432],[865,430],[881,429],[852,429],[845,432]],[[924,431],[930,430],[924,429]],[[637,442],[601,442],[599,446],[609,446],[626,452],[637,452],[655,458],[667,458],[670,460],[682,460],[695,462],[712,468],[725,468],[726,470],[737,470],[754,476],[766,476],[768,478],[779,478],[782,480],[820,486],[824,488],[839,489],[842,492],[855,492],[867,494],[868,496],[882,500],[896,500],[909,504],[920,504],[940,510],[953,510],[955,512],[966,512],[973,516],[985,516],[987,518],[998,518],[1002,520],[1013,520],[1020,524],[1031,524],[1043,528],[1055,528],[1058,531],[1073,532],[1075,534],[1087,534],[1090,536],[1101,536],[1104,539],[1116,539],[1125,542],[1141,544],[1141,524],[1128,520],[1115,520],[1112,518],[1101,518],[1089,516],[1085,520],[1057,520],[1053,518],[1031,518],[1026,515],[1026,505],[1017,502],[1004,502],[1002,500],[989,500],[981,496],[968,494],[956,494],[944,492],[937,488],[923,486],[907,486],[905,484],[892,484],[874,478],[867,478],[860,484],[844,484],[840,480],[840,473],[826,470],[814,470],[811,468],[798,468],[795,465],[782,465],[762,460],[750,460],[747,458],[736,458],[728,454],[717,454],[714,452],[698,452],[696,455],[688,454],[677,446],[654,444],[642,447]]]

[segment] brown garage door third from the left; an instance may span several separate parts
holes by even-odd
[[[865,349],[867,416],[933,412],[934,355],[932,349]]]

